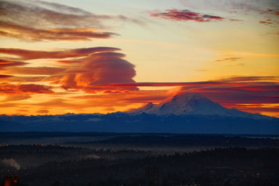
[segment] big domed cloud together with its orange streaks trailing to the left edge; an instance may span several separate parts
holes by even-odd
[[[94,93],[96,90],[138,90],[137,87],[110,87],[110,83],[135,83],[135,66],[123,59],[125,55],[115,52],[119,48],[96,47],[58,51],[23,50],[0,48],[0,54],[12,55],[13,59],[54,59],[63,67],[8,67],[0,82],[48,82],[60,85],[64,90],[83,90]],[[19,74],[30,75],[20,77]],[[38,75],[38,76],[33,76]],[[105,86],[99,86],[105,84]]]

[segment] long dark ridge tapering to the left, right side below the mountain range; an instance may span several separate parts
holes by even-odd
[[[84,142],[82,142],[84,143]],[[122,145],[171,145],[171,146],[242,146],[242,147],[279,147],[279,138],[261,138],[261,136],[236,135],[126,135],[116,136],[103,141],[88,142],[91,144],[122,144]],[[78,143],[77,143],[78,144]],[[84,143],[86,144],[86,143]]]

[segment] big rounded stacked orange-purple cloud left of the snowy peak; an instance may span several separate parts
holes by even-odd
[[[133,88],[121,88],[107,85],[109,83],[135,83],[135,66],[122,59],[123,54],[116,52],[100,52],[80,59],[80,66],[68,68],[64,73],[57,76],[50,76],[45,80],[55,84],[60,84],[66,90],[137,90]],[[77,60],[78,61],[78,60]]]

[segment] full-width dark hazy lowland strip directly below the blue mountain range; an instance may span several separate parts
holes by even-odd
[[[22,143],[21,143],[22,141]],[[278,147],[279,136],[232,134],[121,134],[97,132],[0,132],[0,145],[33,141],[61,145]]]

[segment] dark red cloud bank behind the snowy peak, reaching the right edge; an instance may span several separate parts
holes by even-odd
[[[134,103],[148,103],[149,101],[158,103],[167,100],[168,97],[170,98],[178,92],[199,92],[227,108],[274,116],[276,116],[275,113],[278,113],[278,106],[273,106],[273,104],[279,103],[277,76],[239,76],[205,82],[132,83],[119,86],[180,86],[179,90],[174,91],[174,93],[158,93],[157,96],[154,95],[155,97],[150,92],[146,92],[145,96],[144,94],[141,96],[133,94],[130,97],[123,96],[126,101],[134,101]]]

